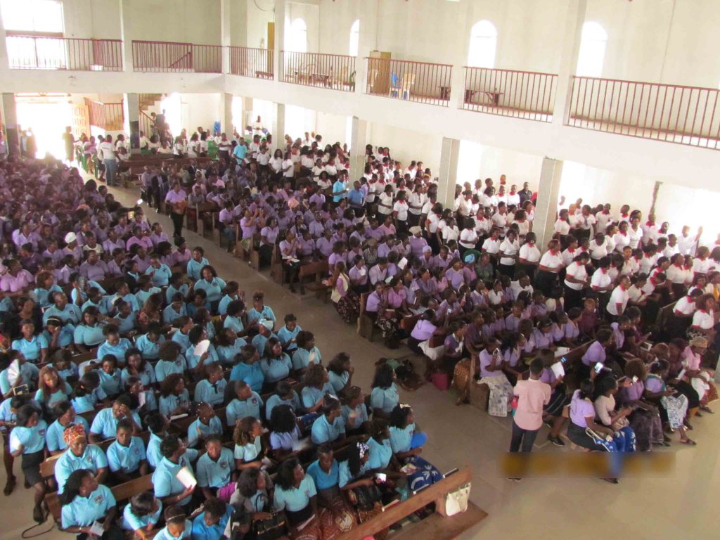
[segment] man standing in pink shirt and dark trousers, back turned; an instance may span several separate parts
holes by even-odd
[[[535,438],[542,426],[543,405],[550,402],[552,389],[550,385],[541,382],[543,362],[536,358],[530,364],[530,379],[518,380],[513,390],[518,399],[518,408],[513,416],[513,438],[510,441],[510,451],[529,452],[533,449]]]

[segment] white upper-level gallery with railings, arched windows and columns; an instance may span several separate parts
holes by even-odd
[[[695,187],[720,171],[712,0],[0,6],[3,91],[226,92]]]

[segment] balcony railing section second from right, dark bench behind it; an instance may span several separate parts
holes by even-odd
[[[539,122],[552,122],[557,75],[465,67],[462,108]]]

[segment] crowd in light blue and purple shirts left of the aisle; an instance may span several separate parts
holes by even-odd
[[[35,521],[56,498],[82,538],[333,538],[441,479],[387,361],[363,392],[348,354],[77,169],[9,158],[0,193],[4,494],[32,487]]]

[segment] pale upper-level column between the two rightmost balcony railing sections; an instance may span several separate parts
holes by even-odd
[[[572,76],[577,70],[577,56],[580,54],[582,25],[585,24],[585,11],[588,0],[569,0],[562,26],[562,52],[560,67],[557,72],[557,97],[555,98],[552,122],[563,125],[570,107],[572,92]]]

